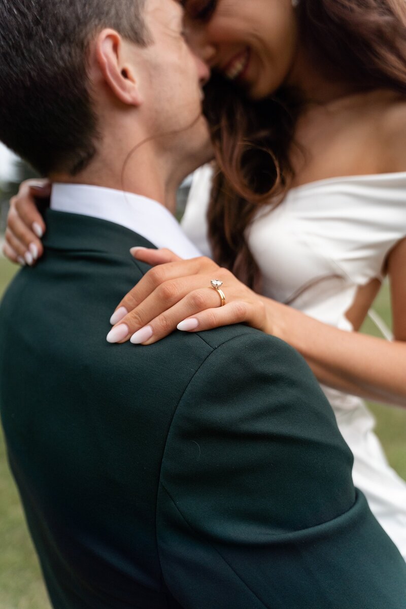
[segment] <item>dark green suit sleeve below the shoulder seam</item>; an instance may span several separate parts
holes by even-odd
[[[260,333],[216,348],[163,457],[157,536],[173,596],[187,609],[404,609],[405,563],[351,468],[301,356]]]

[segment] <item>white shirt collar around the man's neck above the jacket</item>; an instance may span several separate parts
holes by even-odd
[[[201,256],[170,211],[141,195],[100,186],[54,184],[51,209],[114,222],[181,258]]]

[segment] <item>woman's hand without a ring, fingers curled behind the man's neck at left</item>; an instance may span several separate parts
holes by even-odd
[[[10,200],[3,253],[10,261],[32,266],[43,255],[41,238],[45,232],[43,217],[35,199],[49,199],[51,184],[47,180],[26,180]]]

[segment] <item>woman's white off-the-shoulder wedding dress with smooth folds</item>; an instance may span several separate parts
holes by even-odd
[[[196,172],[183,219],[187,235],[205,255],[210,255],[210,182],[209,166]],[[405,237],[406,172],[293,188],[278,208],[262,209],[248,232],[264,295],[346,331],[353,330],[345,314],[357,290],[383,280],[388,253]],[[406,482],[388,465],[363,400],[322,389],[354,454],[355,486],[406,559]]]

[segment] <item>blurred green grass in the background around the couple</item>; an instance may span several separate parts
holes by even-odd
[[[0,258],[0,300],[16,267]],[[377,297],[374,309],[390,325],[387,286]],[[373,323],[363,331],[379,336]],[[406,479],[406,410],[371,404],[377,419],[377,434],[391,465]],[[0,609],[49,609],[40,568],[27,532],[18,493],[9,473],[0,434]]]

